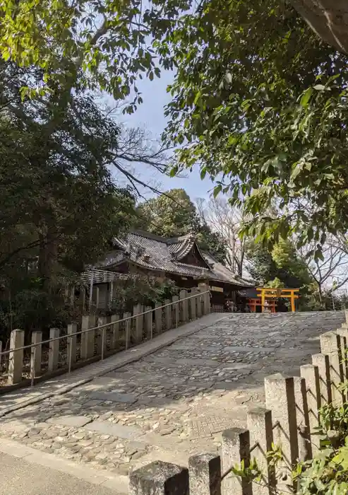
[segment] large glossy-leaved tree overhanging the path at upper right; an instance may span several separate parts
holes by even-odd
[[[347,231],[346,55],[275,0],[203,1],[162,52],[178,66],[164,137],[244,207],[246,235],[297,231],[318,251],[325,232]]]

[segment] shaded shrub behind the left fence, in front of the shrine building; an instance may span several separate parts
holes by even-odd
[[[154,307],[155,303],[164,303],[166,299],[179,294],[174,281],[160,281],[148,276],[130,276],[119,280],[114,286],[112,313],[133,313],[133,306],[142,304]]]

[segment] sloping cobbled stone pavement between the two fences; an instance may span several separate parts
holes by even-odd
[[[320,350],[318,336],[343,321],[341,312],[226,315],[8,414],[0,434],[121,475],[152,460],[186,465],[189,455],[217,451],[222,430],[244,426],[246,408],[263,403],[266,375],[299,375]]]

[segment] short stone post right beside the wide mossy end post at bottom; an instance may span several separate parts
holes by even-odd
[[[200,454],[188,459],[190,495],[221,495],[220,455]]]

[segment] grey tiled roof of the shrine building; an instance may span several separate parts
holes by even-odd
[[[98,264],[98,267],[110,269],[125,260],[129,260],[147,269],[192,276],[196,279],[224,281],[240,287],[251,286],[248,282],[236,277],[207,252],[201,253],[206,263],[205,267],[181,262],[195,244],[196,241],[191,234],[174,239],[165,239],[159,235],[133,231],[128,233],[126,239],[114,240],[115,249],[108,253],[106,259]]]

